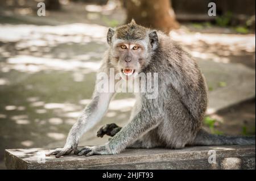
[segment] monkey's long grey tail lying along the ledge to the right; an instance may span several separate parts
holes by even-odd
[[[217,145],[255,145],[255,136],[222,136],[210,134],[201,129],[192,145],[217,146]]]

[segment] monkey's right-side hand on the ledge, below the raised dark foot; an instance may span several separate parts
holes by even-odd
[[[101,145],[101,146],[85,146],[77,155],[85,155],[86,157],[94,155],[94,154],[114,154],[114,151],[109,149],[109,145]]]

